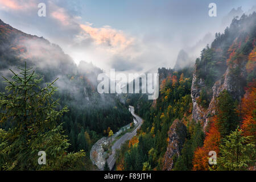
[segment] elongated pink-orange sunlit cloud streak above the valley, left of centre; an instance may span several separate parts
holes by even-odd
[[[51,18],[56,20],[67,29],[76,29],[73,41],[80,43],[83,41],[93,42],[96,46],[104,46],[106,51],[117,53],[127,48],[133,43],[134,38],[131,38],[121,30],[116,30],[110,26],[93,27],[92,23],[80,23],[80,16],[73,16],[69,14],[63,7],[59,7],[52,2],[51,5]],[[77,32],[79,32],[77,34]]]

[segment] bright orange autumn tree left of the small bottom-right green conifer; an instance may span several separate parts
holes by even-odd
[[[209,123],[210,129],[206,134],[204,140],[204,146],[196,149],[193,158],[193,170],[194,171],[207,171],[210,168],[209,162],[209,152],[215,151],[217,156],[220,152],[219,145],[221,135],[216,127],[217,117],[213,117],[212,121]]]

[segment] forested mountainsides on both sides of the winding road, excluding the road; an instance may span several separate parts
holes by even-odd
[[[234,18],[195,64],[159,68],[151,101],[99,94],[101,69],[0,20],[0,169],[96,169],[90,148],[133,121],[132,105],[143,124],[116,152],[116,170],[255,170],[255,45],[256,13]]]

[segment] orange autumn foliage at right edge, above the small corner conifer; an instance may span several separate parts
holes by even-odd
[[[245,96],[242,98],[242,126],[243,135],[254,136],[256,141],[256,88],[253,86],[246,90]]]

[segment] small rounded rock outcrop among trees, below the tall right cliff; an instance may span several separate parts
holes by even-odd
[[[175,119],[168,131],[169,143],[164,155],[163,170],[170,171],[174,167],[173,157],[180,156],[186,135],[187,129],[183,122]]]

